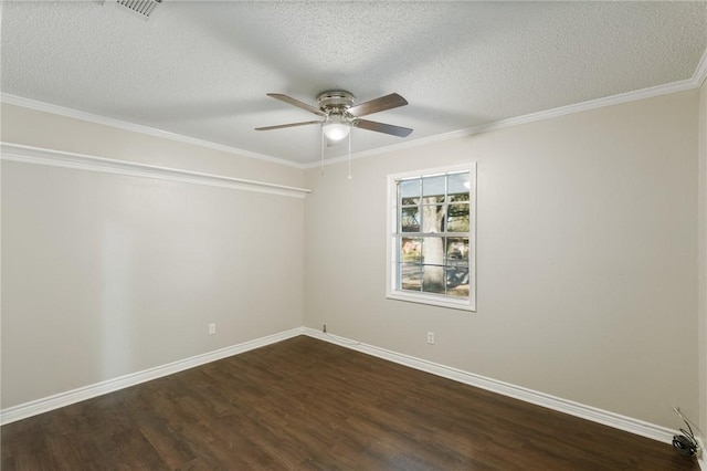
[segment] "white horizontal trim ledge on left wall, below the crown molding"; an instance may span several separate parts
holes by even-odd
[[[83,154],[43,149],[12,143],[0,143],[0,159],[131,177],[158,178],[161,180],[182,184],[205,185],[295,198],[304,198],[307,193],[312,192],[312,190],[305,188],[224,177],[220,175],[201,174],[190,170],[179,170],[175,168],[158,167],[127,160],[115,160]]]

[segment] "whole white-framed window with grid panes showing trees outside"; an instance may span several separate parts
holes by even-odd
[[[474,311],[476,166],[388,177],[388,297]]]

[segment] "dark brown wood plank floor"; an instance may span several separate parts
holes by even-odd
[[[300,336],[2,427],[10,470],[698,470],[671,446]]]

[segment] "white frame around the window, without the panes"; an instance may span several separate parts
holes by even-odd
[[[409,178],[430,177],[435,175],[468,171],[469,175],[469,228],[468,228],[468,300],[447,296],[444,294],[416,293],[398,289],[398,182]],[[463,311],[476,311],[476,163],[461,166],[449,166],[425,170],[405,171],[389,175],[388,178],[388,222],[387,222],[387,270],[386,297],[389,300],[430,304]]]

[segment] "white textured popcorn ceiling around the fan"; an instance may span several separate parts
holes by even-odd
[[[317,116],[265,96],[410,105],[368,116],[405,140],[694,78],[707,2],[165,0],[148,21],[103,1],[3,2],[1,90],[294,163]],[[354,151],[403,142],[356,129]],[[340,156],[346,146],[327,148]]]

